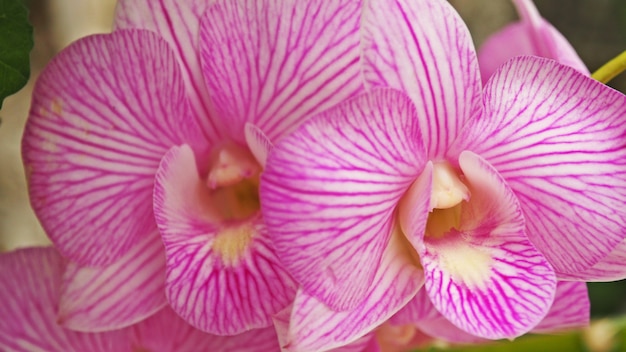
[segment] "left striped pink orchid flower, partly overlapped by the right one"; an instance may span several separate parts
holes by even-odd
[[[23,156],[33,208],[76,263],[64,326],[122,327],[167,302],[215,334],[271,324],[296,285],[270,244],[259,174],[272,141],[362,90],[360,11],[121,0],[112,33],[52,60]]]

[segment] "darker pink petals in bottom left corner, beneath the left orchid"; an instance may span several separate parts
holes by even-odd
[[[273,328],[210,335],[166,307],[127,328],[85,333],[61,327],[56,308],[68,262],[52,247],[0,254],[0,350],[14,352],[277,351]]]

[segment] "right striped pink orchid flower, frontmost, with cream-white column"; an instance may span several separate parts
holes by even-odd
[[[483,88],[445,1],[371,0],[362,27],[370,93],[279,141],[262,175],[263,215],[301,285],[281,344],[350,343],[422,285],[471,335],[531,331],[557,278],[586,279],[626,235],[626,97],[536,57]]]

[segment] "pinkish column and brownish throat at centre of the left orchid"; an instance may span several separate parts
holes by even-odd
[[[213,152],[206,184],[220,220],[245,220],[261,209],[260,173],[247,148],[228,143]]]

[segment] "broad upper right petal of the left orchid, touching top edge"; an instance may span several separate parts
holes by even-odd
[[[230,137],[270,140],[362,90],[361,2],[218,0],[200,31],[202,68]]]

